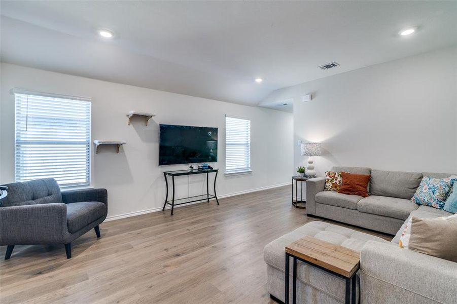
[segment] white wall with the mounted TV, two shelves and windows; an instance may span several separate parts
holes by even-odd
[[[158,166],[158,124],[218,127],[218,195],[229,195],[288,183],[293,168],[293,115],[204,98],[98,81],[28,67],[1,64],[0,183],[14,181],[14,96],[12,88],[92,98],[92,140],[126,140],[92,151],[92,185],[109,194],[109,216],[161,208],[165,198],[162,171],[187,165]],[[144,120],[127,125],[126,113],[157,113],[148,127]],[[225,115],[251,119],[252,174],[225,176]],[[177,196],[203,193],[204,175],[177,178]]]

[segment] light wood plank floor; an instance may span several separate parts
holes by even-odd
[[[2,246],[0,302],[272,303],[263,247],[323,220],[290,199],[286,186],[102,223],[101,238],[76,240],[69,260],[63,245],[37,245],[5,261]]]

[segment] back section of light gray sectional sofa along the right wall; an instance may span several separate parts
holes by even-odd
[[[332,171],[371,174],[368,186],[370,196],[363,198],[324,191],[325,178],[312,178],[306,181],[306,213],[391,235],[395,235],[409,214],[419,208],[410,199],[422,177],[445,178],[451,175],[360,167],[333,167]]]

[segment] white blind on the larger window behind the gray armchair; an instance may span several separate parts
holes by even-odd
[[[16,181],[90,184],[90,101],[15,94]]]

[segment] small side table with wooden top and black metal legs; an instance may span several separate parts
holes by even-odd
[[[292,303],[296,302],[297,259],[346,281],[346,304],[356,302],[356,273],[360,268],[360,253],[310,236],[286,246],[286,293],[289,303],[289,261],[293,262]]]

